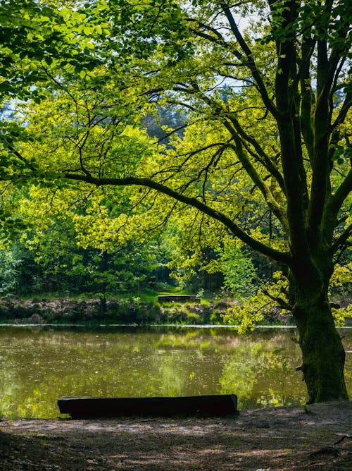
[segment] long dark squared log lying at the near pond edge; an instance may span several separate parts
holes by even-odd
[[[73,419],[91,417],[163,416],[175,415],[233,415],[237,412],[237,396],[154,397],[154,398],[89,398],[62,397],[58,399],[61,414]]]

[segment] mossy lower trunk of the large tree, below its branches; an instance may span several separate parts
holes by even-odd
[[[327,289],[322,286],[316,290],[308,282],[300,285],[293,314],[300,335],[301,369],[308,389],[308,403],[348,400],[344,381],[345,351],[334,326]]]

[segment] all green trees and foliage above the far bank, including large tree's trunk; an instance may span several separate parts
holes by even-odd
[[[244,328],[279,306],[310,402],[346,399],[348,1],[0,7],[4,295],[171,274]]]

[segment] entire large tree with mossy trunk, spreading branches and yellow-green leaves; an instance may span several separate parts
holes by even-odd
[[[96,188],[146,188],[133,204],[166,195],[153,203],[193,208],[208,232],[220,223],[279,264],[309,402],[346,400],[328,286],[352,232],[348,2],[111,0],[108,13],[110,35],[97,45],[105,66],[83,85],[53,75],[52,100],[68,97],[65,126],[75,135],[56,121],[51,146],[18,151],[37,159],[27,170],[46,181],[55,171]],[[187,110],[188,129],[183,139],[166,130],[169,148],[151,151],[121,123],[156,102]]]

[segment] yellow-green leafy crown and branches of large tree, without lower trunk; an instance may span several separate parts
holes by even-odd
[[[4,150],[12,163],[4,161],[3,179],[38,181],[43,195],[56,186],[66,185],[67,195],[74,186],[86,195],[91,185],[105,187],[107,214],[108,201],[123,195],[128,210],[113,214],[99,238],[109,227],[119,237],[142,233],[176,214],[190,250],[200,240],[221,247],[230,233],[285,275],[289,267],[296,281],[315,269],[329,278],[351,236],[347,3],[110,1],[85,8],[77,14],[96,25],[94,49],[84,47],[89,31],[75,23],[76,12],[58,12],[99,66],[86,73],[78,64],[51,64],[52,92],[23,109],[30,138]],[[182,137],[165,128],[168,146],[141,130],[157,106],[185,113]],[[121,230],[127,219],[133,230]],[[323,259],[331,259],[328,267]]]

